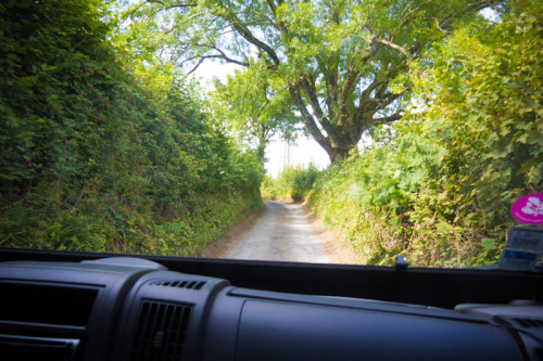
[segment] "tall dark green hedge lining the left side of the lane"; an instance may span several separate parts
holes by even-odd
[[[98,0],[0,4],[1,246],[197,255],[260,205],[254,154],[193,85],[127,61],[115,18]]]

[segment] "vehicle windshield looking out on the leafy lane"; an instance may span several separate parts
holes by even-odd
[[[495,265],[541,229],[542,14],[2,1],[0,246]]]

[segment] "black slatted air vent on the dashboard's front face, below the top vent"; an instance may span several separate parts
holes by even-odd
[[[143,301],[131,360],[180,360],[189,315],[189,306]]]

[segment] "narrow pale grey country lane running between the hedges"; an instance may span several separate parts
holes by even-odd
[[[227,258],[328,263],[320,240],[305,220],[300,206],[264,202],[262,218]]]

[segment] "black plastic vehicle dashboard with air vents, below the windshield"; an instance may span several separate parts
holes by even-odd
[[[543,360],[536,299],[303,295],[137,258],[4,261],[0,289],[2,360]]]

